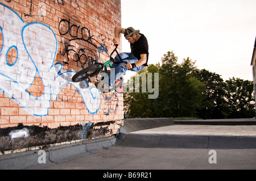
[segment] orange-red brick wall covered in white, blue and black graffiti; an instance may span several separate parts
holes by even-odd
[[[108,60],[115,26],[120,0],[1,0],[0,128],[111,121],[116,133],[123,95],[71,80],[81,65]]]

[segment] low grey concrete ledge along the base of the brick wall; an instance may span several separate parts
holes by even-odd
[[[0,155],[1,170],[40,169],[42,167],[65,162],[82,155],[96,153],[102,149],[116,145],[115,136],[101,137],[93,140],[84,140],[75,144],[52,146],[46,151],[46,163],[39,163],[40,150],[30,150],[20,153]]]

